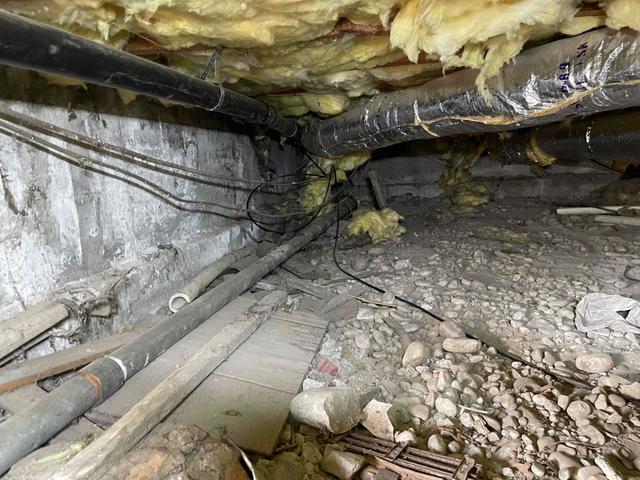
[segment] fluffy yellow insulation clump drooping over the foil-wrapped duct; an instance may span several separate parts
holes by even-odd
[[[417,61],[420,51],[444,66],[480,68],[478,87],[530,39],[559,31],[578,0],[408,0],[391,26],[391,44]]]

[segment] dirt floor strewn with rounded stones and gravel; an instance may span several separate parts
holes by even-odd
[[[399,210],[407,233],[397,240],[340,240],[341,264],[388,293],[365,288],[355,317],[330,325],[305,388],[373,390],[392,405],[396,432],[411,432],[402,438],[467,454],[486,478],[640,478],[640,325],[629,315],[586,333],[576,326],[589,293],[640,298],[637,228],[558,216],[532,201]],[[288,265],[327,290],[358,293],[332,250],[326,235]],[[299,436],[294,457],[308,478],[330,478],[317,467],[321,455],[308,453],[322,451],[316,440]]]

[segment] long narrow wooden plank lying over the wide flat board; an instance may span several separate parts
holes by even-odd
[[[53,480],[100,478],[265,321],[271,312],[249,313],[226,325],[184,365],[97,440],[52,475]]]

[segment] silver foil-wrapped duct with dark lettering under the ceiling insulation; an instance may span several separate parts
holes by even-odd
[[[504,131],[640,106],[640,33],[600,29],[522,53],[488,82],[463,70],[421,87],[373,97],[311,124],[310,152],[334,156],[410,140]]]

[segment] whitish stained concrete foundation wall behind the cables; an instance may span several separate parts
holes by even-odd
[[[165,161],[260,178],[251,130],[222,116],[149,99],[124,105],[114,90],[49,86],[15,69],[0,70],[0,107]],[[246,201],[246,191],[108,161],[187,199],[237,207]],[[2,133],[0,178],[0,319],[61,290],[82,300],[114,289],[119,311],[98,322],[113,330],[164,303],[189,276],[258,233],[244,220],[181,211]]]

